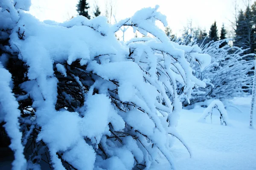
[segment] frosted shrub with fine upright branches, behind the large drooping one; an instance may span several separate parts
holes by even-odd
[[[190,62],[193,75],[206,83],[206,88],[199,87],[192,90],[190,104],[207,99],[232,99],[248,95],[251,91],[253,75],[248,73],[253,68],[254,61],[245,59],[255,54],[243,54],[246,49],[236,46],[225,45],[219,48],[219,45],[227,40],[209,42],[201,47],[202,53],[212,57],[211,64],[207,67],[202,69],[200,63]],[[186,58],[191,61],[189,55]],[[183,86],[178,84],[178,94],[180,94],[180,100],[187,105],[189,102],[185,102]]]

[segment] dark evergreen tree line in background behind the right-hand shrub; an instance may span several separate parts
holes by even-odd
[[[224,40],[229,33],[222,24],[221,31],[218,31],[216,21],[210,26],[209,32],[206,29],[192,28],[192,24],[188,24],[183,30],[182,37],[190,35],[189,42],[196,41],[199,45],[205,45],[210,41]],[[171,28],[166,28],[166,34],[172,40],[177,40],[177,36],[172,34]],[[250,48],[245,51],[245,54],[256,52],[256,2],[253,5],[247,5],[245,10],[240,10],[235,17],[235,22],[233,23],[233,32],[235,33],[232,37],[232,44],[239,48]],[[224,42],[220,47],[226,45]]]

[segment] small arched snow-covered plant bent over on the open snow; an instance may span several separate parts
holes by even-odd
[[[211,122],[212,122],[212,110],[214,108],[216,108],[220,113],[221,125],[223,125],[224,123],[225,125],[230,125],[228,116],[227,116],[227,111],[220,100],[214,100],[211,102],[211,104],[204,110],[204,113],[200,117],[199,122],[205,122],[207,116],[209,115],[211,115]]]

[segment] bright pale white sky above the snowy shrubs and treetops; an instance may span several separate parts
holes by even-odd
[[[92,14],[97,3],[104,15],[107,1],[111,0],[87,0],[91,7],[89,12]],[[206,28],[207,32],[215,20],[218,30],[222,23],[230,30],[229,20],[234,21],[235,17],[235,1],[239,8],[244,8],[243,0],[112,0],[112,3],[117,21],[131,17],[141,8],[159,5],[159,11],[166,15],[173,33],[180,35],[188,20],[192,20],[193,27]],[[64,22],[77,15],[77,3],[78,0],[32,0],[30,13],[42,21]]]

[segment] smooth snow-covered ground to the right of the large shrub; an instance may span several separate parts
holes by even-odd
[[[234,99],[225,106],[230,126],[220,125],[217,111],[213,112],[211,124],[210,117],[207,123],[198,122],[205,108],[183,109],[177,130],[192,158],[175,141],[172,152],[177,170],[256,170],[256,130],[249,128],[250,97]],[[159,161],[161,165],[154,165],[152,170],[169,170],[164,158]]]

